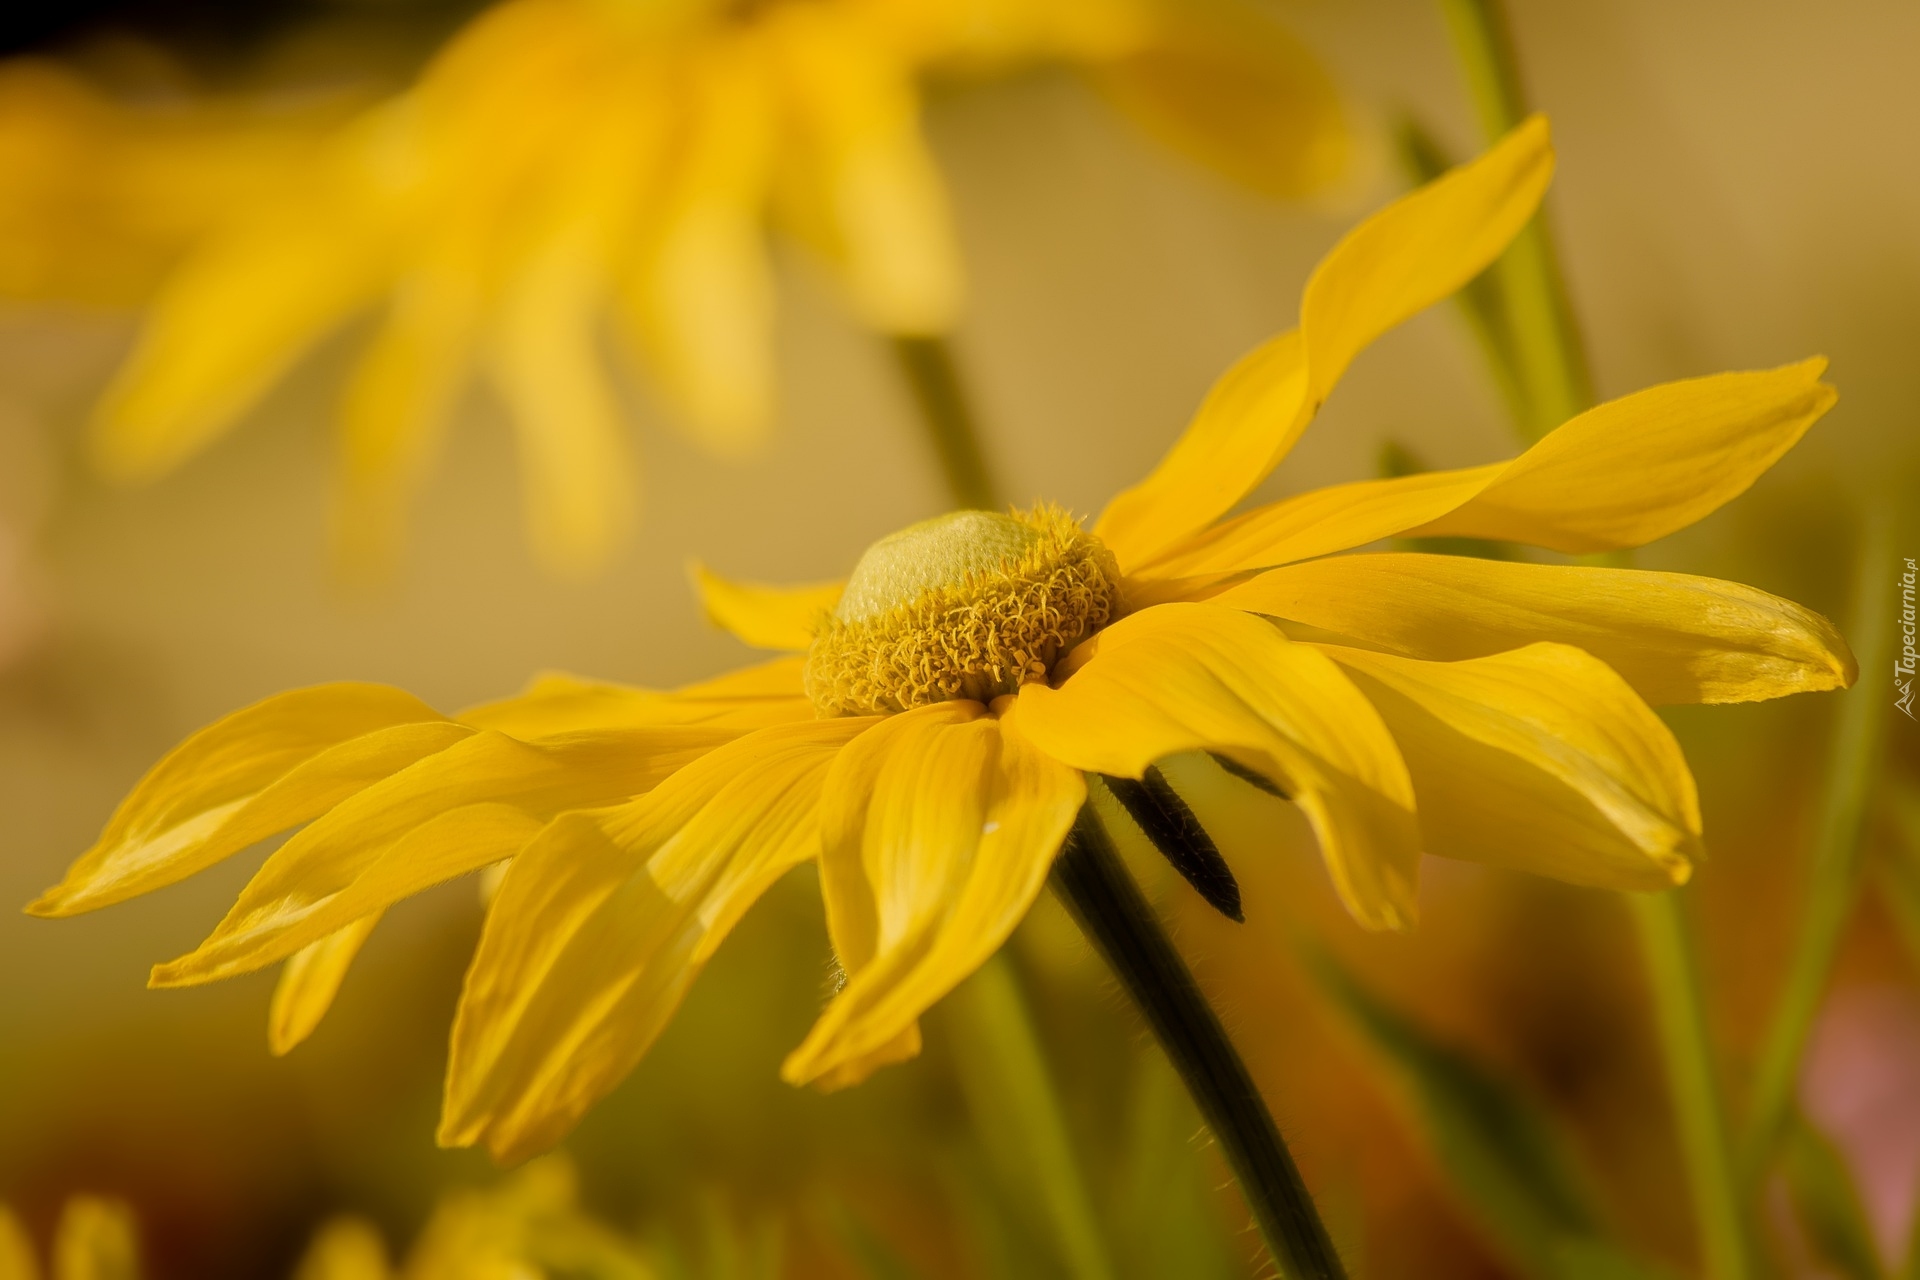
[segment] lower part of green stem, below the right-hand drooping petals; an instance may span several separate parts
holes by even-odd
[[[1734,1176],[1686,898],[1678,892],[1624,898],[1640,929],[1640,958],[1653,996],[1661,1063],[1680,1130],[1701,1263],[1711,1280],[1745,1280],[1753,1274],[1751,1232],[1740,1178]]]

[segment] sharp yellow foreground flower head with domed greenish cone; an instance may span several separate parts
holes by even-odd
[[[1684,574],[1336,553],[1663,537],[1834,403],[1820,361],[1657,386],[1505,462],[1227,514],[1369,342],[1501,251],[1549,171],[1534,119],[1352,230],[1300,326],[1229,370],[1091,532],[1052,509],[956,512],[881,539],[845,585],[703,572],[718,622],[791,656],[672,693],[549,676],[459,716],[374,685],[278,695],[179,747],[31,910],[119,902],[311,823],[152,979],[292,958],[286,1048],[388,904],[511,858],[440,1138],[516,1157],[632,1069],[741,913],[808,860],[845,984],[785,1079],[845,1084],[908,1057],[918,1017],[1039,894],[1087,773],[1139,779],[1175,752],[1292,796],[1373,929],[1413,921],[1423,852],[1676,885],[1699,806],[1647,702],[1845,685],[1826,620]]]

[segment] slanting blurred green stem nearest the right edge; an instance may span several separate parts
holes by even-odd
[[[1745,1151],[1747,1173],[1753,1178],[1764,1173],[1782,1123],[1793,1105],[1807,1034],[1826,996],[1834,956],[1839,952],[1839,938],[1860,889],[1860,837],[1878,773],[1887,704],[1893,700],[1884,676],[1893,662],[1895,587],[1891,512],[1885,503],[1876,503],[1860,547],[1853,618],[1847,629],[1859,647],[1860,670],[1868,679],[1839,695],[1839,718],[1826,752],[1807,915],[1753,1077]]]

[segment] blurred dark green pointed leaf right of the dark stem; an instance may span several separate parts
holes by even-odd
[[[1304,942],[1302,956],[1396,1079],[1448,1186],[1517,1270],[1551,1280],[1667,1274],[1605,1238],[1571,1144],[1521,1086],[1382,1002],[1325,950]]]

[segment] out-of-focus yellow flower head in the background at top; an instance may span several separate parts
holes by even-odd
[[[349,558],[392,545],[480,376],[516,430],[536,547],[591,568],[632,509],[605,315],[722,455],[753,449],[772,409],[768,217],[826,259],[868,326],[952,324],[960,261],[920,134],[924,77],[1066,59],[1215,167],[1279,192],[1323,184],[1346,148],[1325,73],[1238,8],[1208,13],[507,0],[194,248],[100,405],[98,459],[121,478],[167,470],[326,334],[378,311],[340,413]],[[144,173],[171,194],[163,165]],[[171,177],[192,186],[200,171]]]

